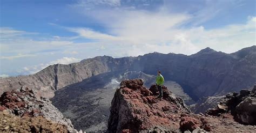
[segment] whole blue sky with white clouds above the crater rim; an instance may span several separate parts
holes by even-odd
[[[0,77],[100,55],[255,45],[255,1],[1,1]]]

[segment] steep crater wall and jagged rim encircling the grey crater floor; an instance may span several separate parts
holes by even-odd
[[[142,71],[156,75],[157,70],[162,71],[166,80],[180,84],[194,100],[223,95],[255,84],[256,46],[232,54],[205,48],[190,56],[172,53],[122,58],[98,56],[68,65],[50,65],[34,75],[1,78],[0,93],[26,85],[53,97],[56,90],[100,73]]]

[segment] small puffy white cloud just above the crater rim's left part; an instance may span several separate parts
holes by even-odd
[[[24,67],[22,70],[19,70],[19,73],[22,73],[23,75],[34,74],[34,73],[37,73],[37,72],[45,69],[49,65],[53,65],[53,64],[70,64],[70,63],[75,63],[75,62],[79,62],[79,61],[81,61],[81,59],[79,59],[79,58],[63,57],[63,58],[60,58],[58,60],[51,61],[49,63],[45,63],[45,64],[41,63],[41,64],[29,66],[29,67]]]

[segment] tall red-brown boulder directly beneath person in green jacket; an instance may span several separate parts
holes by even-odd
[[[143,86],[142,79],[124,80],[114,94],[107,132],[154,130],[177,131],[180,113],[190,110],[182,99],[170,96],[164,87],[163,100],[157,100],[156,86],[151,91]],[[176,104],[174,104],[176,103]],[[176,114],[176,115],[174,115]]]

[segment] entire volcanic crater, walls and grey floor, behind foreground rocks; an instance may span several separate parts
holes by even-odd
[[[105,131],[119,82],[142,78],[149,87],[154,84],[157,70],[161,70],[165,84],[174,94],[193,104],[204,97],[214,98],[252,87],[256,83],[256,46],[231,54],[205,48],[190,56],[173,53],[122,58],[97,56],[68,65],[50,65],[34,75],[0,78],[0,93],[22,85],[35,88],[39,95],[52,98],[53,105],[71,119],[76,129]],[[194,110],[205,109],[204,106]]]

